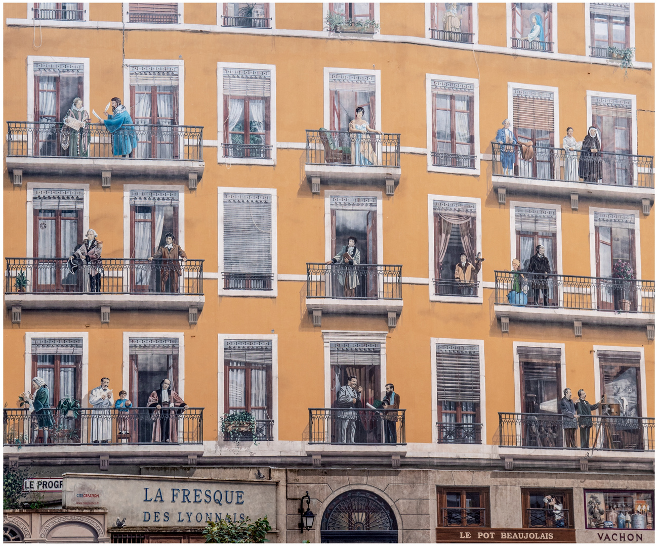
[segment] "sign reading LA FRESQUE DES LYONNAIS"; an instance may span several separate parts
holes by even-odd
[[[112,526],[203,527],[208,520],[276,521],[276,482],[170,476],[64,474],[63,507],[107,509]]]

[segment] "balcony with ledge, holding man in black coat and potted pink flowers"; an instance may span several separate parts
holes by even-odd
[[[508,298],[514,284],[513,273],[494,271],[494,274],[497,317],[635,327],[654,320],[654,281],[522,273],[529,285],[526,301],[516,292]],[[548,298],[544,300],[546,291]]]

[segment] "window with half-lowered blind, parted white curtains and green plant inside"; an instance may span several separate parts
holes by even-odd
[[[224,157],[270,159],[271,70],[222,68]]]

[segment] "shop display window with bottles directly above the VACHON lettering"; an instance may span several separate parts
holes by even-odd
[[[653,491],[584,490],[586,529],[603,529],[613,522],[614,529],[653,530]],[[626,521],[630,518],[630,526]]]

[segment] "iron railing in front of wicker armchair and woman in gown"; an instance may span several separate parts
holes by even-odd
[[[307,164],[359,167],[399,167],[399,133],[350,133],[320,129],[306,131]]]

